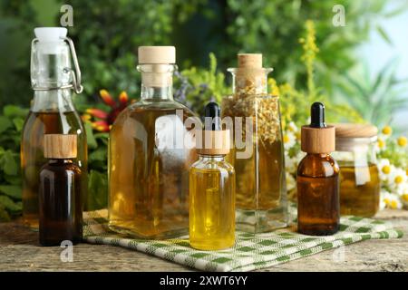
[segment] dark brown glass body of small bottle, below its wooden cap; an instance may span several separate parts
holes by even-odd
[[[81,169],[72,160],[50,160],[40,173],[40,244],[61,246],[83,238]]]

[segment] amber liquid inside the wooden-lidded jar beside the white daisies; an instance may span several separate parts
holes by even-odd
[[[373,217],[380,207],[380,179],[375,164],[355,167],[340,162],[340,212]]]

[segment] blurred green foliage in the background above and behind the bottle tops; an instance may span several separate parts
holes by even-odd
[[[216,53],[219,70],[236,65],[236,54],[264,53],[278,82],[306,87],[306,70],[299,63],[297,40],[306,19],[316,23],[321,53],[316,59],[318,86],[329,94],[338,76],[356,62],[353,49],[370,29],[387,36],[374,17],[385,0],[41,0],[0,4],[0,105],[28,105],[30,42],[38,25],[59,25],[63,4],[73,6],[73,38],[83,71],[83,99],[92,102],[102,88],[139,93],[136,50],[139,45],[173,44],[182,69],[206,67]],[[344,5],[346,26],[335,27],[333,5]],[[18,87],[10,83],[19,83]],[[12,97],[13,96],[13,97]]]

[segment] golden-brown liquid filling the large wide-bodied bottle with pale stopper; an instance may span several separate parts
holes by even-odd
[[[176,131],[191,135],[183,122],[193,116],[175,106],[175,102],[135,103],[112,126],[109,227],[117,232],[141,238],[188,232],[189,167],[198,156],[195,148],[171,148]],[[183,111],[182,120],[176,109]],[[167,127],[170,121],[175,128]]]

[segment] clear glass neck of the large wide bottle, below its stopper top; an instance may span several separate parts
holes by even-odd
[[[141,64],[141,100],[172,101],[174,64]]]

